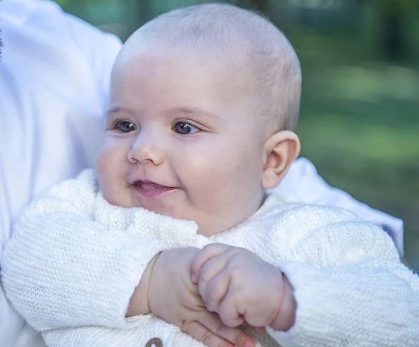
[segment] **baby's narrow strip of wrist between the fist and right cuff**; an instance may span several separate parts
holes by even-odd
[[[292,285],[289,283],[287,276],[284,273],[282,273],[282,279],[284,281],[282,301],[270,327],[277,331],[288,331],[295,323],[296,300],[294,298],[294,288],[292,288]]]

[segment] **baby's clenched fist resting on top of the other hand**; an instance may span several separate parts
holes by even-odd
[[[296,303],[286,276],[244,248],[214,243],[192,264],[192,281],[202,300],[227,327],[246,322],[287,331],[294,325]]]

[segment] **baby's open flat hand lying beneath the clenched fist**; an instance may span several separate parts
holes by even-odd
[[[190,279],[197,248],[161,252],[149,281],[149,308],[154,315],[180,327],[207,346],[255,346],[256,341],[238,328],[226,327],[220,317],[208,312]]]

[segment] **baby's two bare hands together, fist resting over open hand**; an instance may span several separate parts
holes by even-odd
[[[214,243],[165,250],[154,257],[127,315],[152,312],[210,347],[250,347],[256,332],[294,324],[292,286],[273,264],[244,248]]]

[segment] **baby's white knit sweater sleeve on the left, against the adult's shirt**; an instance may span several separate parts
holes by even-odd
[[[8,300],[35,329],[127,328],[132,293],[163,241],[94,219],[93,171],[39,197],[15,225],[1,264]]]

